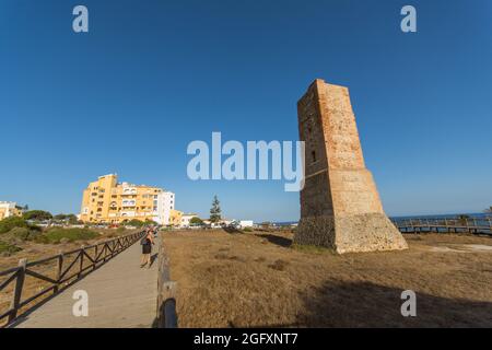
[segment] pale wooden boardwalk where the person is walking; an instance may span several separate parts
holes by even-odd
[[[152,327],[157,307],[159,244],[150,269],[140,268],[140,243],[120,253],[45,304],[20,317],[16,328],[141,328]],[[72,299],[78,290],[89,295],[89,316],[75,317]]]

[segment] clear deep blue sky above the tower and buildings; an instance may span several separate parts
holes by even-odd
[[[72,31],[84,4],[90,33]],[[413,4],[418,33],[400,31]],[[177,208],[298,218],[283,182],[191,182],[187,144],[296,140],[315,78],[350,88],[390,215],[492,205],[492,2],[0,1],[0,200],[78,212],[98,175]]]

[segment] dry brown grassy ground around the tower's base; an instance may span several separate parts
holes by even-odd
[[[492,327],[492,237],[406,238],[338,256],[293,248],[291,233],[165,233],[179,327]],[[401,316],[403,290],[417,317]]]

